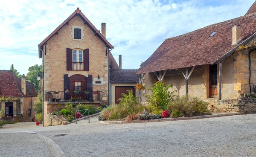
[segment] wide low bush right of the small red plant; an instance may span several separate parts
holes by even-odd
[[[174,99],[167,105],[171,117],[201,116],[209,114],[208,103],[197,97],[190,98],[188,95]]]

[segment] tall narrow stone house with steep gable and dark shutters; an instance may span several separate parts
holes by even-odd
[[[65,102],[59,102],[62,100],[110,104],[110,70],[119,69],[110,52],[113,48],[106,39],[106,24],[102,23],[99,31],[79,8],[38,45],[39,58],[43,59],[42,84],[47,92],[46,119],[56,105],[64,106]]]

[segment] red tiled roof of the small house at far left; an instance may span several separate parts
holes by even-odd
[[[0,97],[36,97],[34,84],[26,81],[26,95],[21,92],[21,78],[11,70],[0,70]]]

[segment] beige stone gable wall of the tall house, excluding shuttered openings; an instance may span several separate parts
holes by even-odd
[[[81,40],[73,39],[74,28],[82,29]],[[66,48],[89,49],[89,71],[67,71]],[[79,16],[73,17],[44,44],[44,91],[64,91],[64,74],[69,77],[75,74],[87,77],[90,74],[93,78],[99,75],[105,81],[101,86],[93,85],[93,91],[108,93],[108,57],[105,54],[106,46],[99,37]]]

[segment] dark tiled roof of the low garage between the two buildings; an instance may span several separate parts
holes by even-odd
[[[134,75],[136,69],[110,69],[111,83],[136,83],[139,82],[139,75]]]

